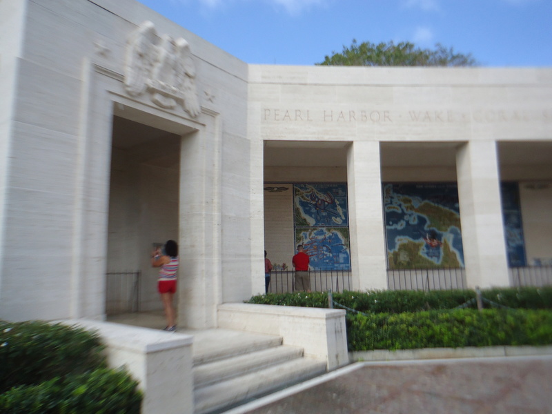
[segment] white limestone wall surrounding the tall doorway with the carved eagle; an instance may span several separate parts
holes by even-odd
[[[193,297],[185,296],[187,313],[197,321],[190,324],[214,326],[223,298],[242,299],[252,290],[251,240],[244,233],[253,215],[247,65],[133,0],[8,0],[0,7],[2,29],[13,34],[0,46],[2,75],[9,75],[0,86],[14,88],[0,101],[9,114],[0,119],[6,132],[0,145],[11,148],[0,159],[6,171],[0,316],[102,319],[106,271],[138,262],[155,273],[144,264],[145,250],[177,237],[191,269],[183,280]],[[199,115],[126,90],[127,40],[144,21],[152,22],[157,43],[164,35],[188,41]],[[171,175],[176,202],[167,204],[159,198],[162,188],[144,181],[163,176],[162,169],[120,161],[117,168],[124,168],[110,177],[113,115],[186,137],[180,164],[186,179]],[[137,198],[142,210],[132,206]],[[159,219],[167,208],[172,221]],[[143,215],[146,210],[154,214]],[[145,295],[146,304],[158,300],[155,290]]]

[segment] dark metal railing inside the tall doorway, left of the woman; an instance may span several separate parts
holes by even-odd
[[[106,314],[140,311],[140,271],[106,273]]]

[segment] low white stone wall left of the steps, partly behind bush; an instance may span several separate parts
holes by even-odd
[[[97,331],[109,366],[124,366],[139,381],[142,414],[193,413],[192,336],[84,319],[62,322]]]

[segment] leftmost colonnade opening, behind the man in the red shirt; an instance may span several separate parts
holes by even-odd
[[[292,258],[311,258],[311,290],[351,288],[348,142],[264,142],[264,244],[268,292],[293,291]]]

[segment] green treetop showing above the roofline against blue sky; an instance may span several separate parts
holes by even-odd
[[[357,43],[353,39],[350,47],[343,46],[341,53],[332,52],[324,61],[316,63],[323,66],[476,66],[477,61],[471,54],[457,53],[447,49],[441,43],[435,50],[422,49],[414,43]]]

